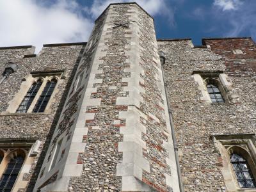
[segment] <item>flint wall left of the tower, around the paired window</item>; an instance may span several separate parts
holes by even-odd
[[[42,141],[40,154],[35,157],[29,173],[24,178],[29,181],[26,191],[32,191],[35,186],[45,152],[51,140],[52,129],[56,126],[60,116],[63,100],[67,97],[81,49],[84,49],[83,44],[45,45],[42,51],[35,56],[31,55],[34,54],[35,47],[0,47],[0,72],[4,71],[4,65],[9,61],[17,62],[19,66],[17,72],[11,74],[0,86],[0,113],[6,111],[9,102],[19,92],[20,84],[30,72],[44,71],[46,68],[48,70],[65,70],[66,72],[65,79],[61,79],[59,86],[56,87],[58,92],[54,97],[54,102],[51,103],[50,113],[0,115],[0,142],[1,138],[12,138],[13,140],[15,138],[24,140],[36,138]],[[17,104],[18,107],[19,104]]]

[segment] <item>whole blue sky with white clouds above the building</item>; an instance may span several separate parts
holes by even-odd
[[[1,0],[0,47],[86,42],[109,3],[127,0]],[[252,36],[256,0],[138,0],[155,19],[157,38]]]

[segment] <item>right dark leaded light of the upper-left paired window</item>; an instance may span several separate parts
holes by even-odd
[[[36,105],[33,109],[34,113],[38,112],[44,112],[44,109],[47,106],[47,103],[49,102],[52,92],[56,86],[57,81],[55,79],[52,79],[52,81],[48,81],[44,87],[43,92],[41,93],[39,99],[36,102]]]

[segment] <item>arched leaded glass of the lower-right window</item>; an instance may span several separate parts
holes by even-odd
[[[255,180],[248,166],[246,159],[238,154],[230,156],[230,163],[236,173],[236,179],[240,188],[255,188]]]

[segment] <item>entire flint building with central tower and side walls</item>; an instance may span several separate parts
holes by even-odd
[[[255,43],[202,43],[117,3],[87,43],[0,47],[0,191],[256,191]]]

